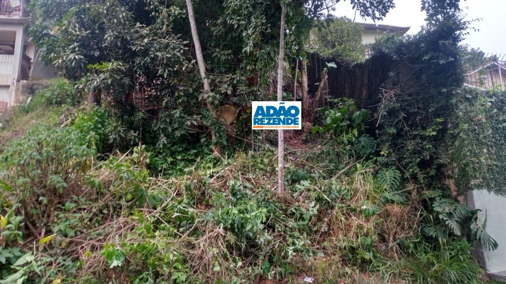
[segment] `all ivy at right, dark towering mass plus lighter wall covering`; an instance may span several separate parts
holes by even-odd
[[[425,236],[442,243],[466,235],[495,249],[476,212],[459,204],[458,192],[441,180],[453,177],[461,193],[501,191],[506,184],[500,177],[506,169],[504,99],[496,92],[461,89],[465,68],[459,43],[469,23],[458,15],[458,6],[456,13],[442,9],[452,10],[458,1],[433,2],[427,10],[432,21],[420,33],[387,36],[373,46],[373,53],[395,63],[376,106],[378,148],[390,158],[385,166],[400,168],[418,188],[413,194],[421,194]]]

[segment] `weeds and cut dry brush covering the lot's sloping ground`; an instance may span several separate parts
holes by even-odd
[[[382,167],[351,101],[338,104],[348,114],[335,127],[349,126],[339,135],[318,134],[323,125],[302,131],[296,149],[288,137],[282,196],[267,143],[223,159],[189,151],[173,162],[143,145],[101,154],[121,136],[106,111],[47,104],[18,109],[8,124],[60,119],[1,132],[13,136],[0,154],[2,283],[473,283],[482,275],[468,242],[431,244],[420,231],[428,213],[419,196],[467,209]]]

